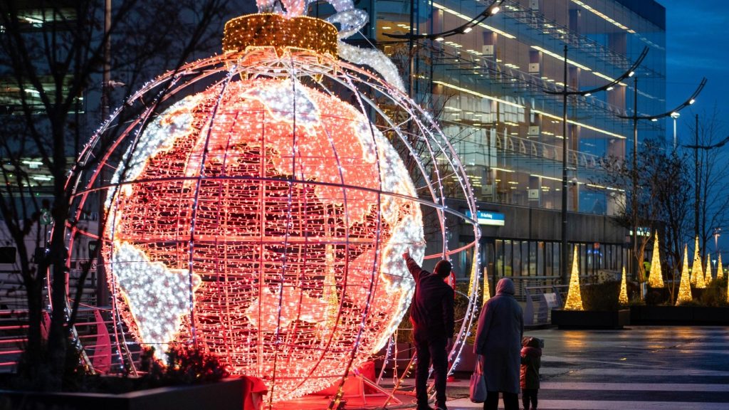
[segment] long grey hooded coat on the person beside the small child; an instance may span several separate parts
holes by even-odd
[[[482,356],[486,390],[490,392],[519,392],[524,317],[514,291],[511,279],[499,280],[496,296],[483,305],[478,317],[473,350]]]

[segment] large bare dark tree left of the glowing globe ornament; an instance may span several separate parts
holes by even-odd
[[[17,247],[28,301],[28,341],[18,371],[37,389],[62,387],[67,360],[77,355],[68,345],[78,304],[66,310],[65,235],[77,223],[69,220],[66,177],[100,122],[99,112],[105,112],[105,104],[97,107],[90,100],[98,101],[102,93],[128,95],[153,74],[177,69],[200,50],[211,54],[226,11],[225,0],[115,0],[111,5],[101,0],[0,3],[0,171],[5,182],[0,214]],[[104,80],[104,72],[114,77]],[[136,114],[129,108],[120,118]],[[28,163],[43,169],[42,178]],[[41,225],[50,217],[55,225],[47,231]],[[79,286],[88,266],[84,272]],[[46,343],[41,320],[47,275],[53,309]]]

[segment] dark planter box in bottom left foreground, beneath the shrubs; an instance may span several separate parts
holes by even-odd
[[[191,386],[159,387],[122,394],[0,390],[9,409],[63,410],[241,410],[243,379]]]

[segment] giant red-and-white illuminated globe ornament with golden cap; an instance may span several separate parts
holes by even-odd
[[[230,20],[223,55],[131,96],[141,115],[123,122],[118,109],[71,179],[76,215],[106,198],[101,245],[118,333],[159,350],[198,344],[233,374],[265,379],[271,401],[341,386],[387,343],[414,290],[401,255],[448,258],[447,218],[472,225],[474,241],[458,251],[479,254],[455,150],[389,60],[340,41],[366,13],[333,1],[338,30],[305,17],[303,1],[282,4]],[[102,169],[110,182],[98,181]],[[463,209],[446,206],[446,184]],[[427,250],[424,214],[437,232]],[[69,252],[78,233],[93,236],[72,231]],[[477,258],[469,264],[477,286]]]

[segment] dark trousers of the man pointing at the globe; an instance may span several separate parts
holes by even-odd
[[[445,405],[445,378],[448,376],[448,352],[445,344],[448,338],[443,334],[433,335],[426,330],[413,330],[415,351],[418,355],[418,370],[415,376],[415,394],[418,409],[428,408],[428,370],[433,363],[435,379],[435,403]]]

